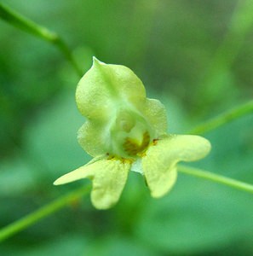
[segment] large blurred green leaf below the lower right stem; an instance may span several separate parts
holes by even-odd
[[[212,252],[214,245],[250,238],[252,211],[252,195],[180,175],[173,193],[141,212],[135,233],[170,253]]]

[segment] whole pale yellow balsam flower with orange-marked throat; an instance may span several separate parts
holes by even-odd
[[[94,58],[76,99],[87,119],[78,142],[94,159],[54,184],[90,178],[91,201],[98,209],[118,202],[130,170],[145,177],[153,197],[161,197],[175,183],[177,162],[199,160],[210,152],[204,137],[167,134],[164,105],[146,97],[141,80],[128,67]]]

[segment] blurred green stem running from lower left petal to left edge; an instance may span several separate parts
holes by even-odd
[[[90,186],[82,187],[81,189],[77,189],[68,193],[67,195],[60,196],[55,201],[50,202],[48,205],[37,209],[37,211],[32,212],[26,215],[19,220],[14,221],[13,223],[3,227],[0,230],[0,241],[4,241],[10,236],[14,236],[14,234],[20,232],[21,230],[25,230],[32,224],[37,223],[39,220],[46,218],[51,213],[59,211],[61,208],[66,207],[66,205],[70,204],[72,201],[76,201],[81,198],[83,195],[87,195],[89,193]]]

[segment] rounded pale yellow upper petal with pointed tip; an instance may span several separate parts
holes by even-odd
[[[127,103],[139,108],[145,97],[144,85],[128,67],[105,64],[95,58],[76,91],[79,111],[88,119],[104,122],[118,106]]]

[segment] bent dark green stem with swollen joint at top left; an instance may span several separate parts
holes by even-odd
[[[40,26],[23,15],[16,13],[14,10],[3,5],[3,3],[0,3],[0,18],[37,38],[42,38],[44,41],[54,44],[60,49],[66,60],[72,64],[72,67],[75,69],[78,76],[81,77],[83,75],[82,69],[78,67],[78,63],[72,56],[71,50],[57,33],[51,32],[46,27]]]

